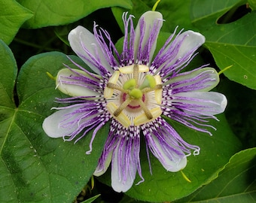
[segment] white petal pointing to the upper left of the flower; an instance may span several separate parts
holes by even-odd
[[[82,55],[90,59],[90,56],[84,49],[87,49],[89,53],[92,54],[96,59],[99,57],[99,60],[102,66],[108,69],[108,71],[110,71],[111,73],[113,72],[108,61],[105,59],[105,56],[102,53],[102,49],[99,46],[98,42],[96,41],[96,38],[89,30],[85,29],[83,26],[78,26],[75,29],[72,29],[71,32],[69,32],[68,39],[69,39],[69,44],[72,47],[72,50],[74,50],[74,52],[78,56],[80,56],[80,58],[94,72],[96,72],[96,74],[100,74],[99,69],[95,65],[91,64],[86,59],[83,59],[81,57]]]

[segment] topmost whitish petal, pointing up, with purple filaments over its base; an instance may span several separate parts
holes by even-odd
[[[159,35],[159,30],[153,30],[155,23],[158,23],[160,27],[163,25],[163,15],[160,12],[157,11],[147,11],[145,14],[142,14],[142,17],[140,17],[138,21],[138,25],[136,26],[135,30],[135,41],[134,41],[134,53],[135,57],[137,56],[138,53],[138,48],[139,48],[139,39],[141,37],[140,33],[140,20],[144,19],[145,21],[145,32],[143,33],[144,38],[142,41],[142,48],[145,47],[146,41],[148,41],[151,32],[157,32],[155,33],[157,36]],[[151,59],[154,54],[154,50],[156,49],[157,46],[157,39],[154,41],[154,44],[152,46],[152,49],[150,50],[150,57],[149,57],[149,62],[151,62]]]

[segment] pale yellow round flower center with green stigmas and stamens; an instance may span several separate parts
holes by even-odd
[[[162,80],[159,75],[146,74],[146,65],[129,65],[114,71],[104,89],[107,108],[126,128],[140,126],[162,114]]]

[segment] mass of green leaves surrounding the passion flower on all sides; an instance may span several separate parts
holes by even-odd
[[[74,55],[66,45],[69,31],[77,25],[91,30],[96,21],[117,42],[123,36],[123,11],[133,14],[136,23],[154,3],[0,0],[1,202],[78,202],[75,198],[86,185],[90,189],[84,202],[256,201],[255,1],[162,0],[157,6],[166,20],[157,49],[179,26],[179,30],[193,29],[206,36],[206,44],[189,68],[210,63],[220,71],[232,65],[221,74],[217,87],[227,95],[229,105],[218,116],[219,122],[209,123],[217,129],[212,136],[168,120],[185,141],[201,147],[199,156],[188,157],[182,172],[167,172],[150,156],[151,174],[142,146],[144,183],[125,195],[117,194],[108,186],[108,171],[89,186],[109,125],[97,133],[90,155],[85,152],[92,132],[74,144],[49,138],[41,129],[44,118],[53,113],[50,109],[59,105],[54,99],[63,96],[46,73],[56,75],[63,63],[72,66],[66,57]],[[71,57],[86,66],[77,56]]]

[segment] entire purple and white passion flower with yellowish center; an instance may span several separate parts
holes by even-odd
[[[111,164],[111,185],[117,192],[133,186],[136,173],[142,177],[140,137],[145,137],[147,154],[151,151],[167,171],[180,171],[187,156],[200,153],[200,147],[188,144],[164,120],[169,117],[200,132],[206,121],[216,119],[227,105],[218,92],[209,92],[218,82],[214,68],[202,66],[181,72],[194,58],[204,42],[200,33],[187,31],[172,34],[154,55],[163,17],[148,11],[139,19],[136,29],[133,16],[123,14],[123,50],[118,53],[107,31],[94,26],[93,34],[78,26],[69,33],[75,53],[93,70],[87,71],[70,59],[78,69],[59,71],[56,87],[71,96],[58,98],[68,103],[56,108],[44,120],[43,129],[52,138],[76,141],[110,121],[95,175],[104,174]],[[213,128],[213,127],[212,127]],[[90,142],[90,153],[93,138]]]

